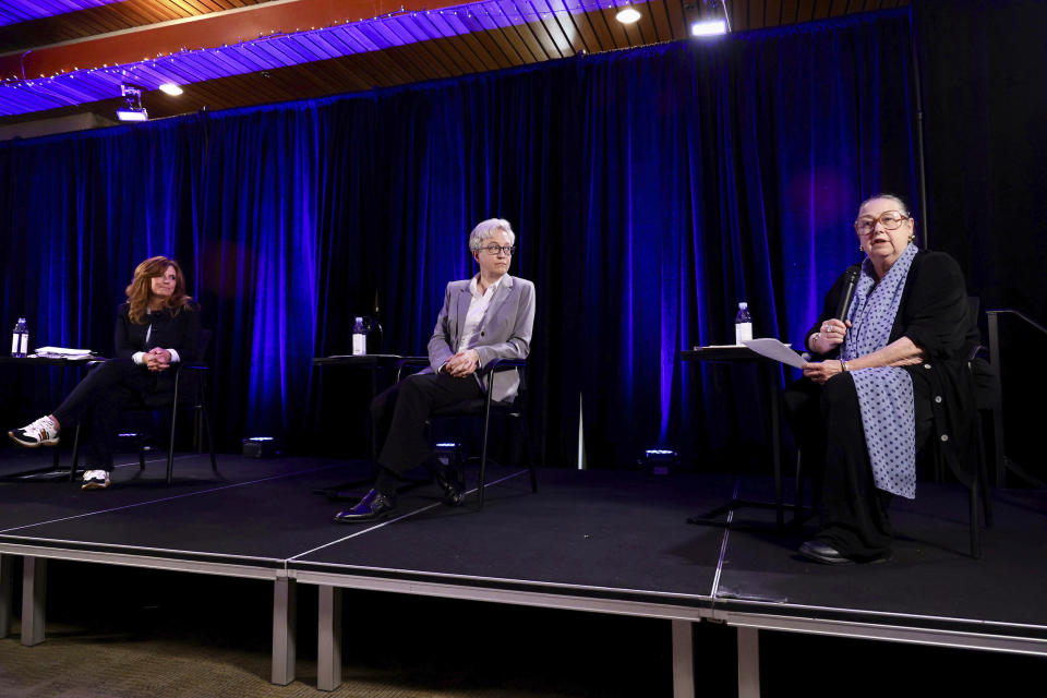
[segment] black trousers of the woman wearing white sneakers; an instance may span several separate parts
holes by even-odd
[[[157,374],[131,359],[109,359],[92,369],[51,412],[62,431],[82,425],[88,470],[111,470],[120,412],[140,407],[142,396],[163,387]]]

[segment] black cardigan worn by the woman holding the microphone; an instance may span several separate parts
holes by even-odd
[[[845,273],[826,294],[818,322],[804,337],[805,347],[821,324],[835,314],[844,276]],[[932,437],[956,478],[970,485],[976,472],[975,458],[980,457],[974,453],[977,450],[973,441],[977,414],[968,366],[968,359],[979,344],[978,327],[977,318],[970,316],[963,273],[948,254],[920,250],[913,257],[889,342],[902,337],[908,337],[927,352],[924,363],[904,369],[913,381],[926,381],[930,386],[935,416]],[[813,358],[816,361],[832,359],[838,353],[839,350],[813,353]]]

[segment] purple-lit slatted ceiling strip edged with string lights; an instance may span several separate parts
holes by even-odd
[[[566,14],[631,4],[647,0],[491,0],[432,10],[404,12],[296,34],[274,34],[250,41],[185,50],[146,61],[94,68],[33,80],[0,81],[0,116],[69,107],[120,96],[120,85],[146,91],[172,82],[179,85],[260,70],[380,51],[394,46],[459,36],[472,32],[554,20]],[[35,0],[41,7],[104,4],[105,0]],[[27,2],[15,3],[28,7]],[[2,15],[3,10],[0,10]],[[561,22],[570,31],[571,22]],[[568,43],[574,36],[566,37]],[[168,97],[163,97],[168,98]]]

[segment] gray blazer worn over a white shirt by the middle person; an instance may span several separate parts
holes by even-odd
[[[458,349],[469,302],[472,300],[469,293],[470,280],[452,281],[444,291],[444,306],[429,340],[429,365],[434,372],[440,371]],[[527,279],[506,274],[495,289],[491,304],[477,328],[480,344],[473,349],[480,354],[480,365],[486,365],[492,359],[526,359],[530,352],[533,325],[534,285]],[[518,372],[495,373],[491,397],[498,401],[513,399],[519,385]],[[488,389],[483,383],[481,387]]]

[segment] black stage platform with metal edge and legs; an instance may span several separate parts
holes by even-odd
[[[4,452],[0,476],[49,459]],[[1047,655],[1045,492],[995,492],[996,526],[975,561],[965,492],[920,483],[918,500],[892,509],[893,561],[826,567],[796,555],[803,537],[775,529],[770,510],[686,524],[736,490],[770,498],[770,478],[544,469],[532,494],[525,470],[495,467],[480,513],[474,496],[447,508],[429,485],[387,521],[339,526],[341,505],[313,492],[363,476],[364,464],[222,456],[219,470],[216,480],[206,456],[185,455],[173,486],[161,458],[118,467],[105,492],[0,484],[0,635],[22,556],[25,645],[45,637],[48,558],[272,580],[278,684],[293,679],[296,586],[315,585],[324,689],[340,683],[344,588],[669,618],[677,696],[694,695],[690,624],[703,619],[738,628],[742,696],[759,691],[759,629]]]

